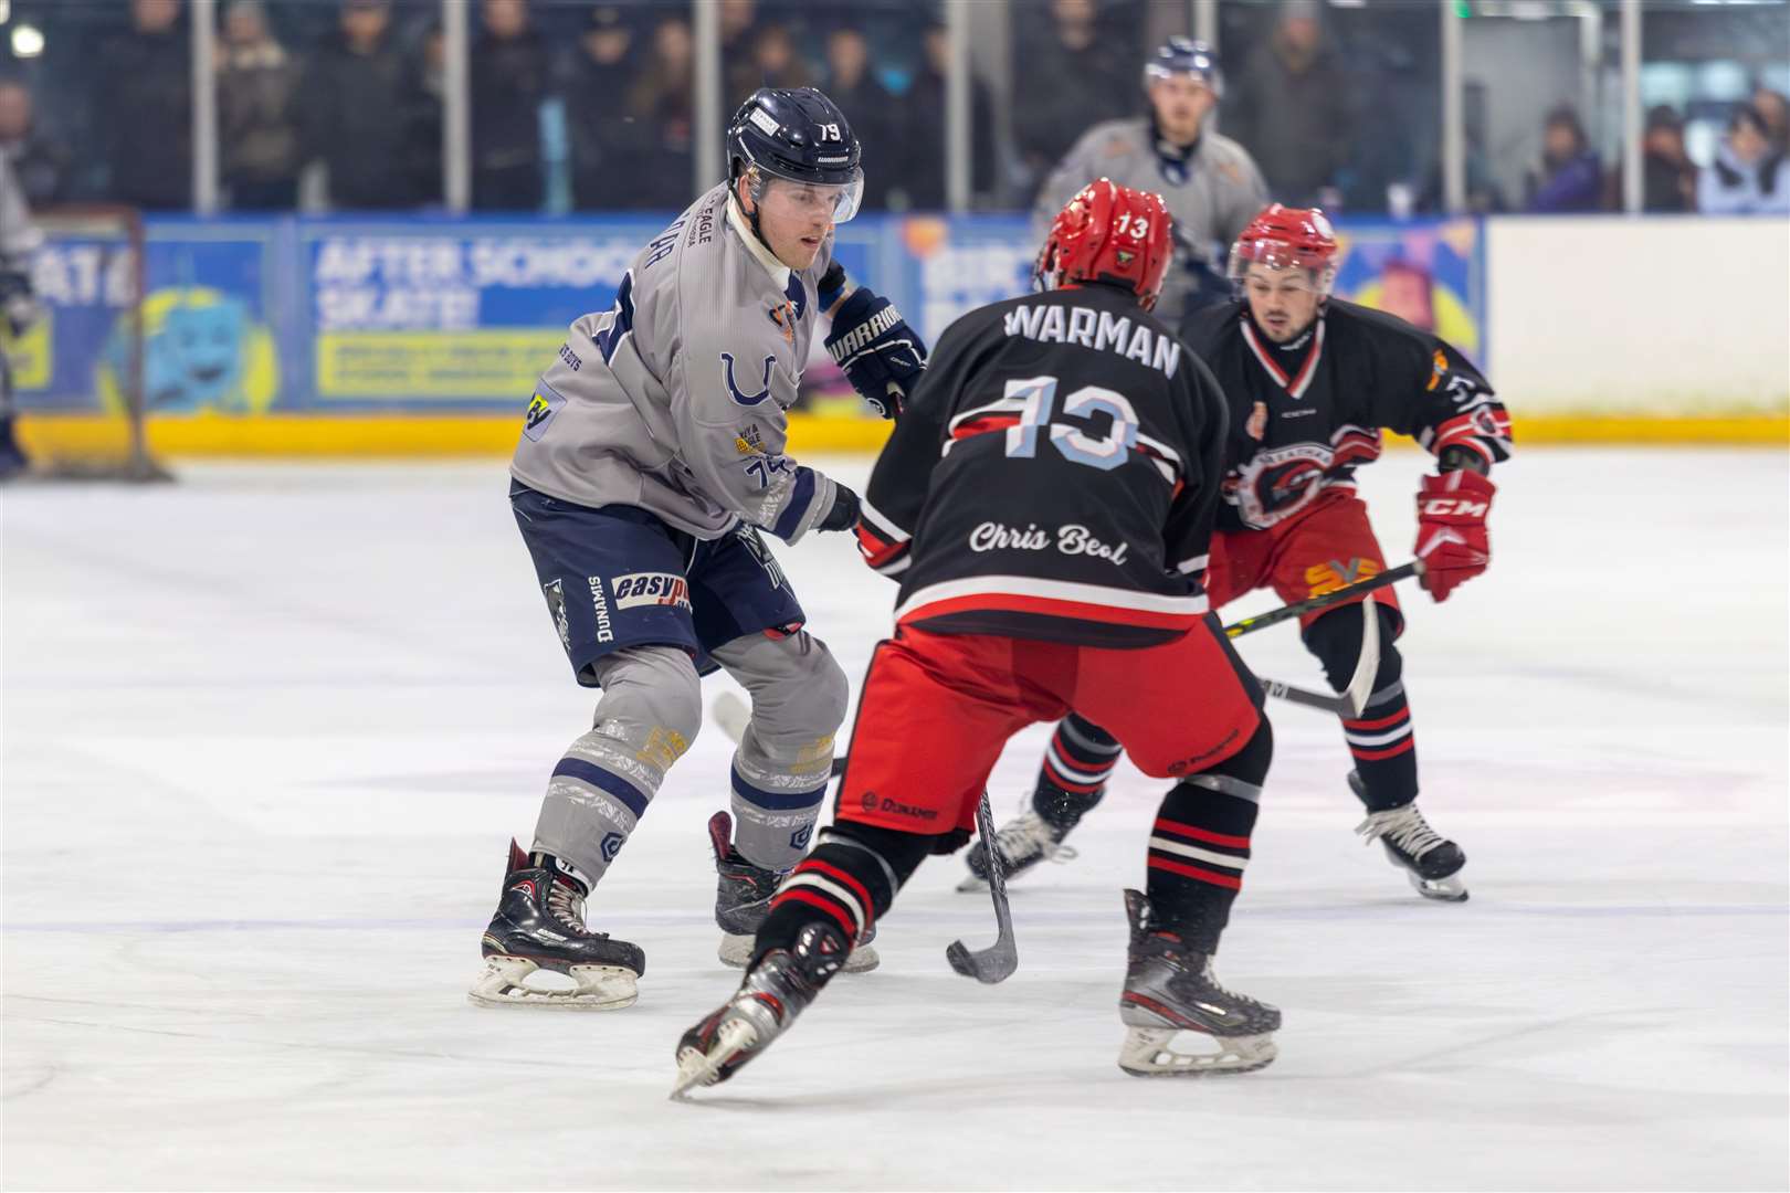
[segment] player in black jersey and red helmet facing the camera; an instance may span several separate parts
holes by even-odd
[[[1436,456],[1418,492],[1416,554],[1437,601],[1486,571],[1491,549],[1491,465],[1511,451],[1511,424],[1491,386],[1452,345],[1411,324],[1332,299],[1335,236],[1319,211],[1274,204],[1232,249],[1242,297],[1196,311],[1181,327],[1230,401],[1224,503],[1206,592],[1219,608],[1251,588],[1283,601],[1330,592],[1385,569],[1355,495],[1355,469],[1380,454],[1382,429],[1416,436]],[[1342,723],[1355,769],[1348,785],[1366,805],[1359,832],[1385,848],[1419,894],[1466,900],[1466,855],[1418,810],[1418,755],[1402,660],[1393,639],[1403,615],[1391,588],[1375,594],[1384,644],[1373,696]],[[1339,690],[1355,673],[1360,615],[1353,605],[1301,619],[1305,646]],[[997,833],[1017,873],[1063,848],[1099,803],[1121,746],[1090,719],[1058,724],[1031,805]],[[1065,860],[1067,860],[1065,857]],[[970,855],[976,889],[986,873]]]

